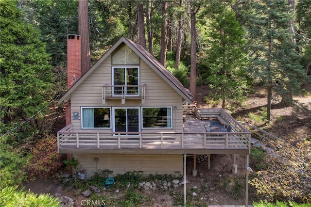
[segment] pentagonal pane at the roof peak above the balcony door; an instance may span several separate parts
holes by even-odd
[[[127,45],[112,55],[112,64],[139,64],[138,55]]]

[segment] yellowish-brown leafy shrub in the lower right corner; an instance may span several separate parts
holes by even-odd
[[[251,174],[250,184],[261,200],[311,203],[311,142],[270,141],[267,168]]]

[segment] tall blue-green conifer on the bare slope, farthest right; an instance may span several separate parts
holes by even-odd
[[[267,120],[270,122],[273,92],[281,96],[282,105],[293,103],[293,93],[298,92],[304,78],[300,56],[292,41],[289,25],[293,19],[288,1],[253,2],[254,13],[248,28],[250,74],[258,77],[267,90]]]

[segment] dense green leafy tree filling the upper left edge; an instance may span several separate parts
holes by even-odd
[[[1,1],[1,133],[40,111],[53,81],[40,33],[22,21],[17,2]]]

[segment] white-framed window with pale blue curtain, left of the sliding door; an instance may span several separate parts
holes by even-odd
[[[110,108],[82,107],[81,128],[111,128]]]

